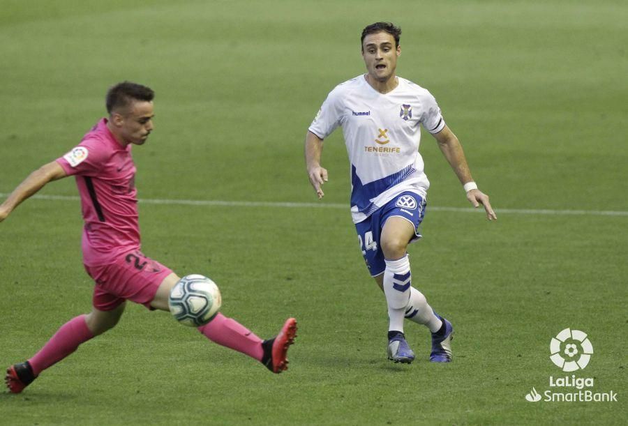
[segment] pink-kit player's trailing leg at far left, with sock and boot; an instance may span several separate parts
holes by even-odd
[[[12,393],[20,393],[48,367],[76,351],[80,344],[113,328],[124,312],[124,303],[110,311],[93,307],[91,312],[70,319],[33,358],[8,367],[5,382]]]

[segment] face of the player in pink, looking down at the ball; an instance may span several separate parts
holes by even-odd
[[[114,113],[114,125],[127,144],[142,145],[153,131],[153,102],[137,100],[125,112]]]

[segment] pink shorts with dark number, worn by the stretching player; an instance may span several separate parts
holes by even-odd
[[[122,254],[109,265],[85,265],[85,270],[96,282],[92,304],[101,311],[114,310],[127,299],[152,309],[159,284],[172,273],[139,250]]]

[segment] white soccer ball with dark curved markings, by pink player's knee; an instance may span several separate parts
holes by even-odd
[[[186,275],[172,287],[170,313],[184,326],[200,327],[216,317],[222,300],[216,283],[203,275]]]

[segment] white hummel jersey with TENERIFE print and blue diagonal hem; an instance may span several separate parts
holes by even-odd
[[[430,182],[419,154],[421,131],[444,128],[436,100],[426,89],[398,78],[382,94],[359,75],[338,84],[323,102],[309,130],[324,139],[341,125],[351,162],[351,213],[354,223],[401,192],[426,196]]]

